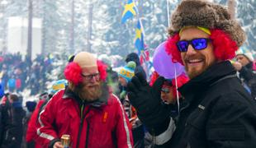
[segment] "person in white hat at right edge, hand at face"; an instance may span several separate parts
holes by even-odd
[[[235,70],[239,72],[239,78],[246,90],[256,99],[256,75],[253,54],[245,49],[236,52],[236,61],[232,62]]]

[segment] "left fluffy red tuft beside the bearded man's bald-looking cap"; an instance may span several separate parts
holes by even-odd
[[[82,68],[78,65],[77,62],[70,62],[64,69],[64,76],[70,82],[72,82],[75,86],[78,83],[83,81],[81,76]]]

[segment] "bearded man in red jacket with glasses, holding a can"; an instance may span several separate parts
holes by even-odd
[[[65,67],[69,86],[59,90],[40,113],[37,141],[43,147],[64,147],[63,135],[69,135],[73,148],[133,146],[126,113],[105,82],[106,68],[87,52],[75,55]]]

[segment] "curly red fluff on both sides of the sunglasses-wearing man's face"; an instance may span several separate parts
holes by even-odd
[[[223,30],[211,30],[210,39],[214,47],[214,53],[216,58],[221,61],[235,58],[235,51],[238,49],[234,40],[230,39],[230,36]],[[165,45],[166,52],[172,55],[173,62],[180,62],[183,64],[181,53],[178,51],[176,43],[179,40],[179,35],[173,35],[167,40]],[[184,65],[184,64],[183,64]]]

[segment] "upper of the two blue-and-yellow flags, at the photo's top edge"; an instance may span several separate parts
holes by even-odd
[[[137,14],[135,7],[135,2],[133,0],[128,0],[125,5],[125,10],[121,16],[121,23],[124,24],[130,17],[133,17]]]

